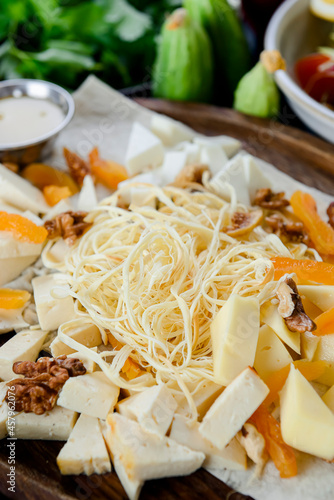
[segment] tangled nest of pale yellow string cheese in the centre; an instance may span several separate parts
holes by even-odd
[[[234,239],[223,229],[235,211],[248,212],[219,196],[207,182],[203,192],[146,186],[156,208],[117,207],[122,190],[105,199],[87,217],[93,225],[67,254],[63,270],[70,276],[78,310],[104,334],[124,347],[92,353],[60,327],[59,338],[85,352],[120,387],[142,390],[147,378],[126,381],[120,370],[130,355],[157,381],[183,392],[193,414],[189,387],[214,380],[210,323],[231,293],[274,296],[270,257],[302,258],[307,247],[285,247],[261,227]],[[125,189],[125,188],[124,188]],[[75,323],[75,322],[74,322]],[[111,362],[107,362],[108,359]],[[192,389],[193,390],[193,389]]]

